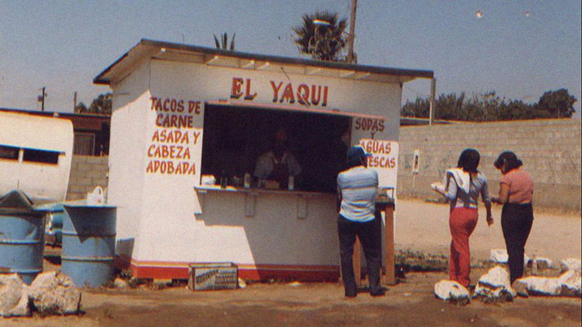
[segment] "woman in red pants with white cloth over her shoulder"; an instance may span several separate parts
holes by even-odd
[[[471,254],[469,236],[477,225],[477,200],[481,200],[487,210],[487,224],[493,224],[491,198],[485,175],[477,170],[480,155],[477,150],[465,149],[457,162],[457,168],[446,171],[444,184],[432,184],[431,188],[441,193],[450,202],[449,227],[450,242],[449,278],[469,287]]]

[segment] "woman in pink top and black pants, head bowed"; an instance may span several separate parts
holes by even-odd
[[[530,174],[521,169],[523,163],[510,151],[502,152],[494,163],[501,170],[499,197],[492,201],[503,204],[501,228],[509,255],[511,282],[523,276],[524,251],[534,221],[531,201],[534,183]]]

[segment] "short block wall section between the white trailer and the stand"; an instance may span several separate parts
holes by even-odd
[[[108,174],[109,157],[73,155],[67,200],[86,198],[97,186],[107,189]]]

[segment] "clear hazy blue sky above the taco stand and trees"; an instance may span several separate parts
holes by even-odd
[[[74,91],[89,105],[108,91],[93,77],[141,38],[214,47],[213,33],[236,32],[239,51],[300,56],[292,28],[324,9],[349,18],[350,0],[0,0],[0,107],[39,109],[42,86],[48,111],[72,111]],[[580,101],[580,13],[579,0],[360,0],[355,50],[361,64],[434,70],[439,94],[535,102],[567,88]],[[405,84],[403,101],[429,88]]]

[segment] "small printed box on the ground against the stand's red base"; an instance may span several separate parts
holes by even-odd
[[[188,266],[188,288],[199,290],[236,289],[238,267],[232,262],[201,262]]]

